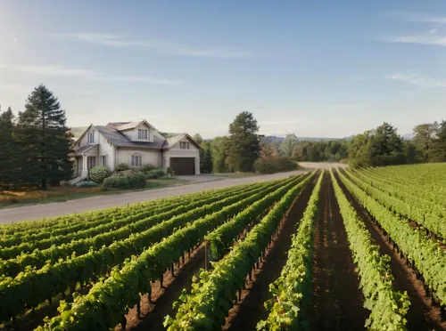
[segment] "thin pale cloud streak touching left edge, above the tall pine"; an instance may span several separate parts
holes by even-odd
[[[0,68],[27,72],[47,77],[70,77],[98,82],[128,82],[147,83],[153,85],[178,85],[182,82],[177,79],[152,77],[152,76],[128,76],[113,75],[90,69],[71,69],[62,66],[0,66]]]

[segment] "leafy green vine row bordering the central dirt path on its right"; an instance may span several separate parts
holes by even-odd
[[[390,257],[379,253],[379,246],[374,244],[370,232],[343,194],[334,174],[330,174],[353,261],[358,266],[359,286],[365,297],[364,307],[370,311],[365,327],[376,331],[406,330],[409,295],[393,288]]]

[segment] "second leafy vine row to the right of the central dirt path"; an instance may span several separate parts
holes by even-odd
[[[438,246],[424,231],[415,230],[406,220],[401,220],[389,209],[361,190],[354,182],[338,172],[341,182],[358,199],[385,232],[412,262],[434,296],[446,308],[446,251]]]

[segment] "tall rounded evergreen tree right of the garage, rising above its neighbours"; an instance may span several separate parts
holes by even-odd
[[[244,111],[229,125],[227,144],[227,164],[233,170],[249,172],[254,170],[254,162],[259,157],[259,126],[252,113]]]

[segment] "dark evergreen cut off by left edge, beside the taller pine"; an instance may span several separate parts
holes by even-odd
[[[17,144],[13,138],[14,115],[11,107],[2,112],[0,109],[0,188],[7,190],[17,187],[20,166],[17,159]]]

